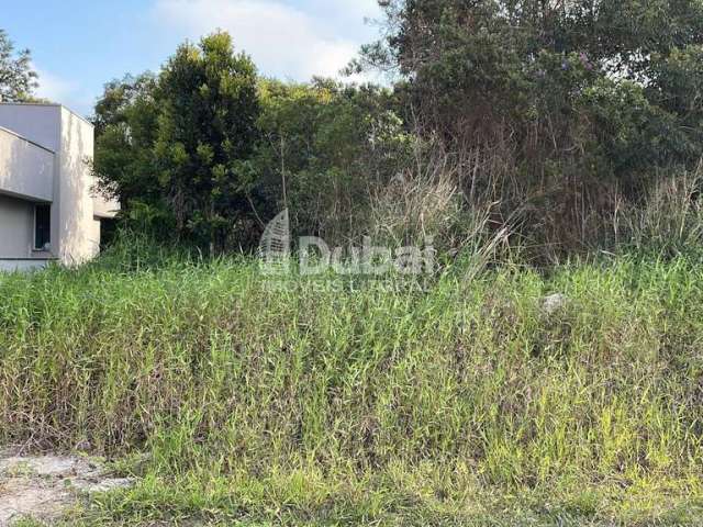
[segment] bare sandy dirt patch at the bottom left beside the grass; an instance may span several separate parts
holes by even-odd
[[[131,486],[112,478],[98,460],[83,456],[21,456],[0,450],[0,527],[22,518],[52,520],[86,493]]]

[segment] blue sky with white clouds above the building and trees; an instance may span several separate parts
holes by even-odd
[[[103,85],[158,70],[176,46],[232,33],[261,74],[335,76],[377,35],[376,0],[34,0],[2,3],[0,27],[32,51],[38,94],[89,114]]]

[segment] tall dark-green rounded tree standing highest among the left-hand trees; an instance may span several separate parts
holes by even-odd
[[[183,44],[159,77],[158,177],[178,231],[211,254],[250,231],[243,161],[256,143],[256,82],[254,63],[234,54],[227,33]]]

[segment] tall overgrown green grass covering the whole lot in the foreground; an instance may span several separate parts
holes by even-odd
[[[703,266],[466,269],[0,277],[0,442],[141,478],[71,526],[703,524]]]

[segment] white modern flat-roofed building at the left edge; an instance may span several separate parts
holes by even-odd
[[[0,270],[99,253],[120,205],[96,192],[92,156],[92,124],[70,110],[0,103]]]

